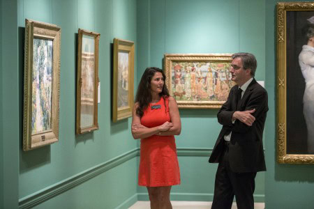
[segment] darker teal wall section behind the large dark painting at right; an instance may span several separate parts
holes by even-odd
[[[313,208],[314,165],[276,162],[276,3],[266,1],[266,88],[269,114],[266,121],[265,208]]]

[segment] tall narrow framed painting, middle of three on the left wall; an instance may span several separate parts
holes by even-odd
[[[79,29],[77,47],[76,134],[98,130],[99,33]]]

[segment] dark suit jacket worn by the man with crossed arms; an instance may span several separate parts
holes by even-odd
[[[237,90],[239,86],[231,88],[227,102],[223,104],[217,114],[218,122],[223,125],[218,136],[209,162],[219,162],[223,154],[223,141],[226,133],[232,131],[229,145],[230,169],[236,173],[266,171],[262,135],[268,111],[267,91],[255,79],[248,85],[237,105]],[[232,124],[234,111],[255,109],[252,114],[255,121],[248,126],[239,120]]]

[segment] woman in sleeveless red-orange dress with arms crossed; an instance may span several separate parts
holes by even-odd
[[[165,73],[147,68],[137,88],[132,135],[141,139],[138,184],[147,187],[151,209],[172,208],[170,189],[180,184],[174,135],[180,132],[179,109],[165,86]]]

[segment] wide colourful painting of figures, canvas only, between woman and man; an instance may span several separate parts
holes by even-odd
[[[231,82],[230,62],[173,62],[172,96],[177,101],[225,101]]]

